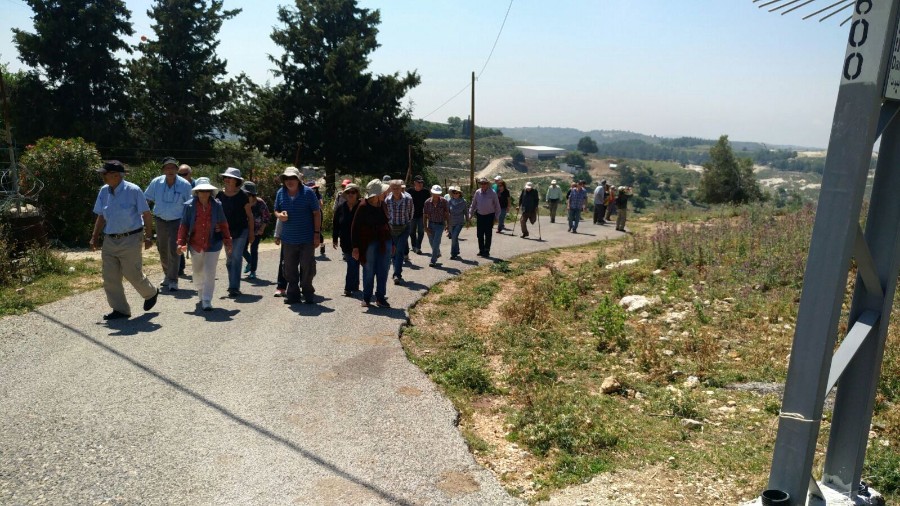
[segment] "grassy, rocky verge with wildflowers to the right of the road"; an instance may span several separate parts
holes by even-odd
[[[434,287],[402,342],[512,494],[536,502],[645,471],[647,504],[752,499],[768,477],[813,219],[811,207],[728,208],[475,269]],[[888,340],[864,479],[892,503],[896,323]]]

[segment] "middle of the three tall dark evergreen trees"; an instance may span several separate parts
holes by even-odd
[[[224,79],[217,36],[222,23],[241,10],[222,5],[223,0],[157,0],[147,11],[156,38],[141,43],[141,56],[129,62],[131,129],[154,156],[206,151],[223,134],[219,112],[231,100],[234,83]]]

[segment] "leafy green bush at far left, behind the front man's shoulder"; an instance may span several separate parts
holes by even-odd
[[[50,236],[64,244],[87,244],[95,221],[94,201],[102,181],[93,169],[102,163],[93,144],[44,137],[22,156],[34,177],[44,183],[38,204]]]

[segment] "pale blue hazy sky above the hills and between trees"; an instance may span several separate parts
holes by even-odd
[[[133,42],[154,37],[150,0],[126,0]],[[220,56],[231,73],[274,80],[269,35],[277,0],[225,0],[244,11],[225,23]],[[830,3],[830,2],[825,2]],[[821,5],[818,2],[814,5]],[[415,70],[422,84],[413,116],[432,113],[485,64],[508,0],[360,0],[381,11],[371,70]],[[840,83],[846,16],[802,21],[752,0],[514,0],[476,82],[476,122],[491,127],[558,126],[651,135],[825,147]],[[798,15],[799,12],[803,14]],[[31,10],[0,0],[0,62],[22,67],[13,27]],[[468,90],[427,116],[469,114]]]

